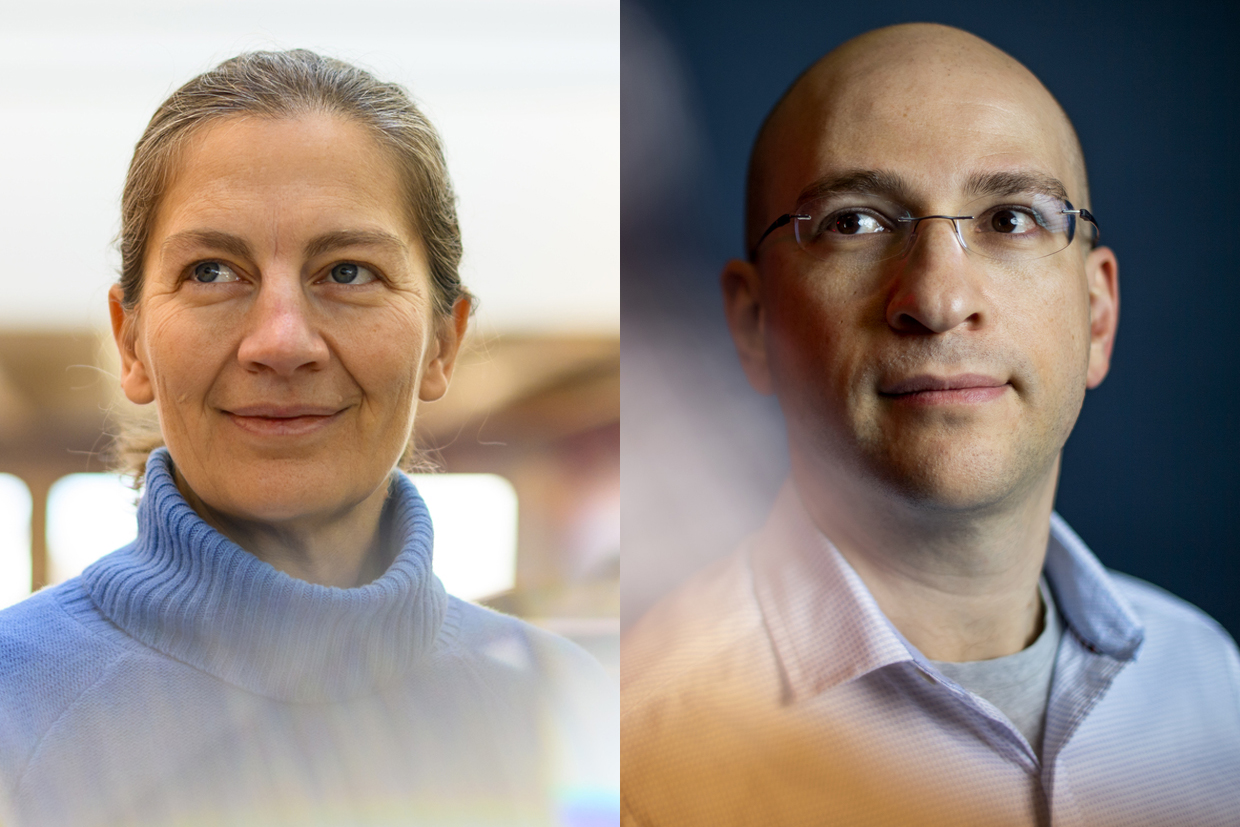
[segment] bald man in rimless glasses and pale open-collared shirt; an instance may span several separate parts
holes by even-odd
[[[1028,69],[931,25],[811,67],[723,272],[768,524],[622,653],[631,825],[1234,825],[1240,655],[1052,513],[1115,254]]]

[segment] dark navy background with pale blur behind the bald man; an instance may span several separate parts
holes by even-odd
[[[749,148],[811,62],[934,21],[1028,66],[1075,123],[1120,260],[1106,382],[1058,511],[1112,568],[1240,637],[1240,11],[1234,2],[622,0],[624,595],[627,626],[765,520],[782,419],[746,384],[718,274],[743,255]]]

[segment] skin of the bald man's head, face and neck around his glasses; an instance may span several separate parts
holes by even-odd
[[[754,151],[750,243],[813,182],[854,170],[899,176],[920,216],[960,214],[971,176],[996,172],[1052,176],[1089,205],[1054,98],[1009,56],[945,26],[839,47],[785,95]],[[841,272],[781,228],[754,263],[729,262],[722,285],[750,383],[779,397],[801,498],[893,624],[934,660],[1032,642],[1060,453],[1110,366],[1114,253],[1078,237],[1001,263],[929,221],[905,255]],[[985,399],[890,393],[960,374],[999,387]]]

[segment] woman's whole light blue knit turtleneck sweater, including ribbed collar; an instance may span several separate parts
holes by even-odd
[[[614,683],[448,596],[403,475],[387,508],[387,573],[314,585],[205,523],[154,453],[138,539],[0,613],[0,822],[595,823]]]

